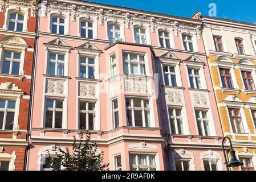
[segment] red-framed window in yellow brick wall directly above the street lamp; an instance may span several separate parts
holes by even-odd
[[[229,109],[229,117],[233,133],[244,133],[242,117],[238,109]]]

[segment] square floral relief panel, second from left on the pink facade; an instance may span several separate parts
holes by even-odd
[[[79,82],[79,96],[95,98],[96,97],[96,84],[89,82]]]

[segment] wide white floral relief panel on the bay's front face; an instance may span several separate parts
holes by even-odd
[[[148,94],[147,80],[125,79],[125,93]]]

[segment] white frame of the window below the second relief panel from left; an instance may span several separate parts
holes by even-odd
[[[85,102],[86,103],[86,110],[81,110],[80,109],[80,107],[79,107],[80,102]],[[94,107],[95,107],[94,110],[89,110],[88,103],[94,104]],[[89,114],[93,114],[93,117],[94,117],[94,129],[93,130],[96,130],[96,105],[97,105],[96,101],[82,100],[82,99],[80,99],[78,101],[78,108],[79,108],[78,129],[79,130],[82,130],[82,129],[80,129],[80,113],[86,113],[86,129],[84,129],[84,130],[89,130]]]

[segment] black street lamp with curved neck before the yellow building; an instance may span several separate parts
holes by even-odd
[[[230,160],[229,163],[227,162],[226,151],[225,151],[225,148],[224,148],[225,139],[228,139],[229,144],[230,144],[230,151],[229,152],[230,152],[230,155],[231,155],[231,160]],[[224,137],[222,139],[222,150],[224,152],[224,158],[225,158],[225,164],[226,164],[227,171],[229,171],[229,167],[243,166],[243,163],[239,162],[239,160],[237,160],[237,158],[235,158],[235,151],[233,149],[232,142],[231,142],[229,137]]]

